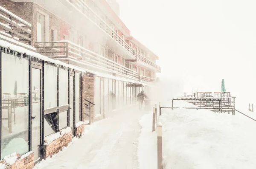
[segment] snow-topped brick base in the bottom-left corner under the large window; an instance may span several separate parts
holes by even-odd
[[[15,163],[9,164],[6,163],[6,160],[0,161],[0,163],[5,164],[5,169],[32,169],[34,167],[34,152],[28,152],[22,156],[19,153],[15,153],[10,158],[13,156],[17,158]]]

